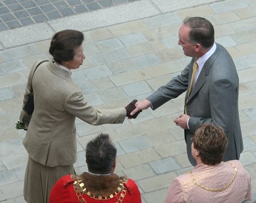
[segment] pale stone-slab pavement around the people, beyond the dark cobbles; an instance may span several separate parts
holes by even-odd
[[[240,160],[251,175],[256,200],[255,0],[142,0],[0,31],[0,202],[25,202],[27,153],[22,139],[26,132],[14,126],[27,75],[36,60],[50,59],[47,50],[53,33],[67,28],[84,32],[86,60],[73,71],[73,80],[93,106],[123,107],[133,99],[146,98],[188,64],[190,58],[177,45],[185,16],[209,19],[217,43],[234,58],[244,143]],[[100,132],[109,133],[118,149],[117,174],[137,182],[143,202],[163,202],[172,179],[192,168],[183,130],[174,125],[183,106],[184,94],[124,124],[92,126],[77,119],[77,173],[87,170],[88,140]]]

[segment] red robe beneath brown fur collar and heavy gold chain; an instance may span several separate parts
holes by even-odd
[[[66,175],[61,177],[60,180],[56,182],[53,186],[49,203],[80,203],[79,199],[76,196],[75,190],[73,188],[74,179],[71,178],[71,175]],[[85,183],[86,184],[86,183]],[[141,193],[139,192],[137,184],[128,179],[127,183],[124,183],[124,186],[127,188],[125,198],[123,198],[123,203],[141,203]],[[117,194],[117,197],[110,198],[109,200],[94,200],[93,198],[83,194],[82,197],[87,203],[115,203],[120,197],[121,192]]]

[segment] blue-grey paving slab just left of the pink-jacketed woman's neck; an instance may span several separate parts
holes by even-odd
[[[156,172],[156,174],[165,174],[167,172],[176,171],[181,168],[172,157],[155,160],[149,164],[151,168]]]

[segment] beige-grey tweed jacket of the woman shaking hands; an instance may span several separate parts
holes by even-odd
[[[36,65],[28,75],[23,106],[30,92]],[[35,109],[30,118],[22,110],[20,120],[29,122],[23,145],[36,162],[44,166],[67,166],[76,162],[75,119],[92,125],[119,124],[125,120],[125,108],[96,109],[72,82],[71,75],[53,62],[44,62],[32,79]]]

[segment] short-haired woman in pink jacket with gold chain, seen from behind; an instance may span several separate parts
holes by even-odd
[[[204,124],[197,129],[191,146],[197,165],[172,181],[165,202],[252,200],[250,176],[239,160],[222,162],[227,145],[228,139],[221,127]]]

